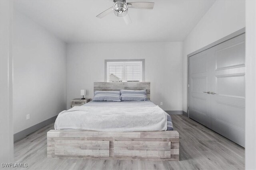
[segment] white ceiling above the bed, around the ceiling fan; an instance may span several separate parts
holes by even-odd
[[[17,0],[14,6],[67,43],[158,42],[183,41],[215,0],[138,2],[155,2],[154,9],[129,9],[129,25],[114,14],[96,18],[111,0]]]

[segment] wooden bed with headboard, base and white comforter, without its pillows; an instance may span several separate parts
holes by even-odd
[[[60,113],[47,133],[48,158],[179,160],[179,134],[150,101],[150,82],[94,83],[94,91],[121,89],[146,89],[148,101],[89,102]]]

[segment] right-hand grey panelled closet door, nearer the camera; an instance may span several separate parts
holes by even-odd
[[[211,129],[244,147],[245,34],[212,50]]]

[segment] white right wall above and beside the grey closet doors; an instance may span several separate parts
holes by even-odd
[[[245,27],[244,0],[217,0],[184,40],[183,111],[187,111],[187,55]]]

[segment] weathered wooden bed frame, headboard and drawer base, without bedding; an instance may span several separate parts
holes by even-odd
[[[94,82],[95,90],[147,90],[150,82]],[[179,160],[177,131],[101,132],[50,130],[47,157],[71,159]]]

